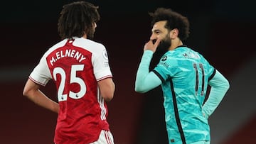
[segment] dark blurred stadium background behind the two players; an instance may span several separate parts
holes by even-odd
[[[0,143],[53,143],[56,114],[22,96],[28,75],[60,38],[58,16],[71,1],[1,1]],[[230,81],[230,90],[209,118],[212,144],[256,143],[256,10],[238,1],[90,1],[100,6],[95,40],[109,52],[116,92],[108,103],[116,144],[167,144],[163,98],[157,88],[134,92],[148,12],[171,8],[191,22],[185,44],[201,52]],[[42,89],[57,100],[52,82]]]

